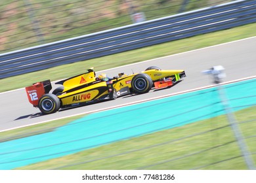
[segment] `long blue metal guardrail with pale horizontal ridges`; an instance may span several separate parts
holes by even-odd
[[[256,22],[256,0],[239,0],[0,54],[0,79]]]

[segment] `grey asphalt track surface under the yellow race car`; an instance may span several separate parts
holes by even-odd
[[[126,74],[131,74],[133,71],[135,73],[139,73],[140,71],[144,71],[147,67],[156,65],[161,69],[184,69],[187,77],[173,88],[158,91],[151,90],[149,93],[142,95],[127,95],[125,97],[120,97],[115,101],[106,101],[103,103],[96,103],[94,105],[71,108],[69,110],[62,110],[49,115],[37,115],[40,110],[38,108],[33,108],[33,106],[28,102],[24,88],[11,92],[3,92],[0,93],[0,131],[208,86],[211,84],[211,78],[209,78],[209,76],[202,75],[201,71],[209,69],[214,65],[223,65],[226,69],[227,77],[224,81],[255,76],[255,48],[256,37],[252,37],[250,39],[229,42],[200,50],[109,69],[107,71],[103,71],[103,73],[106,73],[108,76],[116,76],[117,73],[121,72],[125,72]],[[86,69],[87,68],[85,67],[85,71]],[[78,75],[80,73],[75,73],[75,75],[76,74]],[[98,74],[99,73],[96,73],[96,75]],[[49,79],[51,79],[51,76],[49,76]]]

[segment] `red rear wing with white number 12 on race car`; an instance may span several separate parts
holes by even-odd
[[[25,89],[28,96],[28,101],[30,101],[33,107],[37,107],[41,96],[49,93],[52,89],[52,85],[50,80],[44,80],[34,83],[32,86],[28,86]]]

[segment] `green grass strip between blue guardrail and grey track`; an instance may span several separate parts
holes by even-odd
[[[127,65],[130,63],[137,63],[147,59],[154,59],[161,56],[169,56],[171,54],[195,50],[205,46],[213,46],[224,42],[253,37],[256,35],[255,29],[256,23],[248,24],[232,29],[207,33],[205,35],[198,35],[187,39],[166,42],[163,44],[148,46],[137,50],[104,56],[101,58],[61,65],[51,69],[45,69],[25,75],[13,76],[0,80],[0,92],[30,86],[32,83],[41,80],[58,80],[62,78],[68,78],[70,76],[84,73],[89,67],[95,67],[95,71],[100,71],[121,65]]]

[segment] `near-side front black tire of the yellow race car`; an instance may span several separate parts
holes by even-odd
[[[140,73],[131,80],[131,87],[135,93],[147,93],[153,86],[153,81],[149,75]]]

